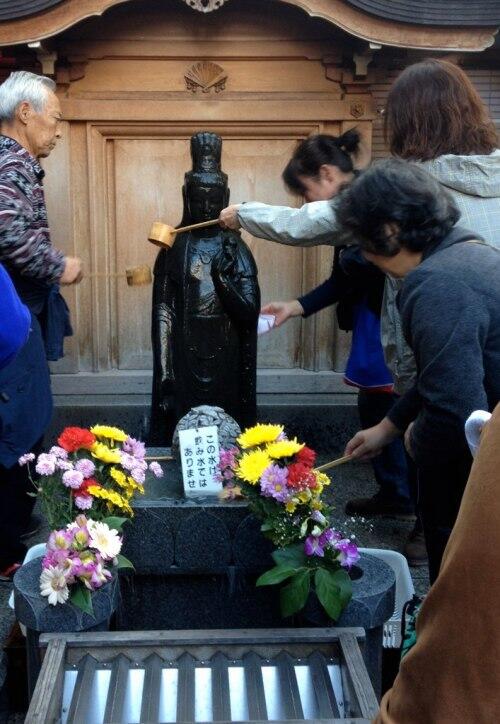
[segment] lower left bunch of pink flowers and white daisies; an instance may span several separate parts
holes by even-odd
[[[92,591],[111,580],[111,569],[132,567],[120,554],[121,547],[119,530],[78,515],[73,523],[49,536],[42,560],[40,593],[53,606],[69,599],[92,615]]]

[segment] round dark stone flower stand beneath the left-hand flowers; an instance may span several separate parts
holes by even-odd
[[[40,593],[42,559],[22,566],[14,576],[14,607],[17,620],[26,626],[28,694],[31,697],[40,672],[38,639],[41,633],[107,631],[119,601],[117,578],[92,593],[94,615],[84,613],[72,603],[52,606]]]

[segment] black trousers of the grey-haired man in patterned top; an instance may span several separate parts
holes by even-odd
[[[40,440],[31,452],[37,455],[42,449],[41,443]],[[32,464],[31,469],[34,473]],[[28,495],[33,492],[35,489],[27,466],[4,468],[0,465],[0,570],[12,563],[22,562],[26,554],[21,535],[28,527],[35,505],[36,498]]]

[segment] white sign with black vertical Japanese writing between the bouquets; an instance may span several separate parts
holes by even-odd
[[[222,483],[216,479],[219,463],[219,433],[215,425],[179,430],[184,494],[216,495]]]

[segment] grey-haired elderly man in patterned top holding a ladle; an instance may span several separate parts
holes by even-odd
[[[0,86],[0,263],[31,313],[26,344],[0,371],[1,578],[10,578],[23,557],[21,535],[33,508],[26,468],[17,459],[39,449],[52,414],[43,340],[62,347],[69,319],[58,285],[81,279],[80,260],[54,249],[47,223],[39,159],[61,136],[54,91],[52,80],[24,71]]]

